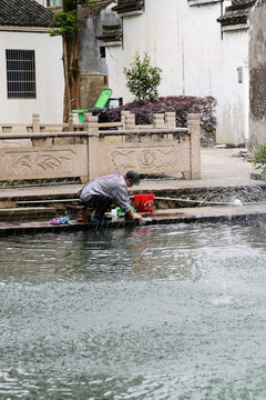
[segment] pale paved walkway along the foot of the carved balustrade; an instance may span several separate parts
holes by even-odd
[[[166,190],[166,189],[197,189],[217,187],[262,186],[264,181],[250,179],[250,173],[256,172],[252,162],[239,156],[243,149],[202,149],[202,174],[197,180],[149,179],[141,180],[137,191]],[[82,184],[65,184],[54,187],[32,188],[2,188],[0,201],[8,199],[75,198]]]

